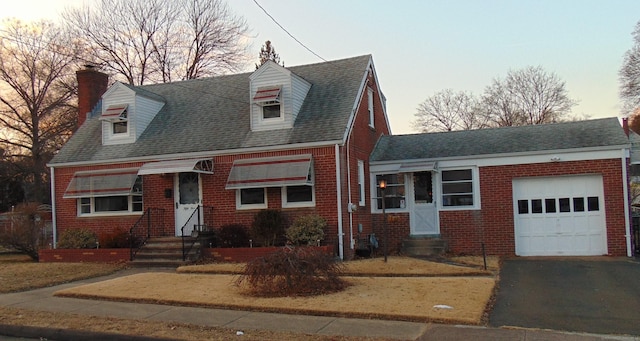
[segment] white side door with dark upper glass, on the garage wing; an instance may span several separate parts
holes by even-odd
[[[410,181],[413,196],[410,198],[411,235],[434,235],[440,233],[438,210],[434,198],[433,172],[415,172]]]

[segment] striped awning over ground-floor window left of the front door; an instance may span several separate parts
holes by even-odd
[[[76,172],[63,197],[130,195],[137,176],[137,168]]]

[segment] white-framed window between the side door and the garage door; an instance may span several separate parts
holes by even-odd
[[[472,169],[442,171],[442,206],[474,206],[474,176]]]

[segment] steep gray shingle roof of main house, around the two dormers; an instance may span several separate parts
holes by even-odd
[[[312,84],[294,127],[252,132],[250,73],[129,86],[165,106],[133,144],[103,146],[101,123],[88,119],[50,162],[101,162],[180,153],[342,140],[371,56],[289,67]]]

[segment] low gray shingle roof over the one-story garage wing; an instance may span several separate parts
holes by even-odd
[[[618,119],[383,136],[370,160],[468,158],[629,145]]]

